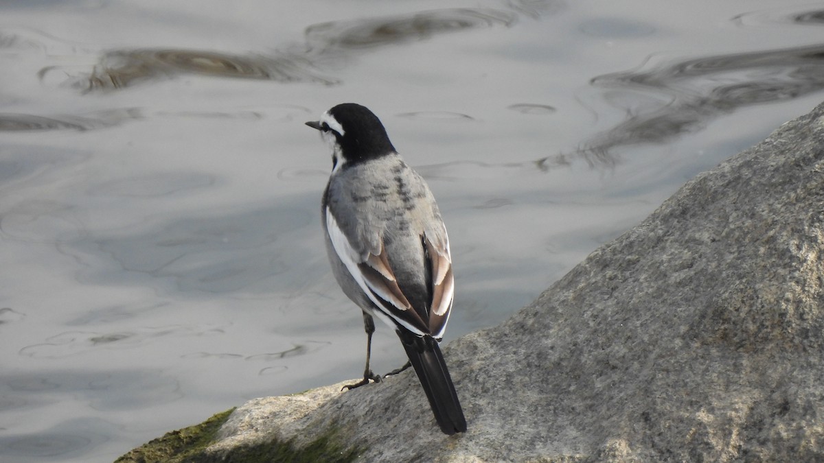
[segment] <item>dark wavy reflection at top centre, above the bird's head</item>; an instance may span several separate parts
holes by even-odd
[[[511,26],[516,18],[514,13],[503,10],[443,9],[404,16],[324,22],[307,27],[306,36],[312,48],[361,49],[428,39],[456,30]]]

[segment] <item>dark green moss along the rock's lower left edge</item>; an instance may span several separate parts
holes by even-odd
[[[261,442],[252,446],[236,447],[227,455],[208,454],[204,450],[214,441],[218,429],[233,409],[216,414],[203,423],[166,433],[143,446],[129,451],[115,463],[256,463],[290,461],[295,463],[330,461],[344,463],[354,461],[363,453],[359,447],[349,447],[337,437],[336,427],[298,448],[294,439],[287,442]]]

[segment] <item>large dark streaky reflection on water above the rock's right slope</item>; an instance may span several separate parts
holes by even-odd
[[[784,101],[824,89],[824,44],[727,54],[592,79],[629,118],[589,141],[593,162],[610,164],[613,147],[664,143],[703,129],[710,119],[747,105]]]

